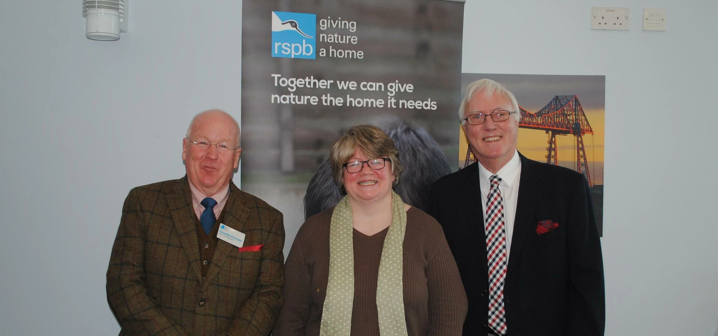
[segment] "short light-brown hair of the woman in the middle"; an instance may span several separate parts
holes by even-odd
[[[344,189],[344,167],[342,166],[354,156],[354,151],[357,148],[371,159],[388,157],[391,160],[391,172],[394,174],[392,187],[396,187],[402,169],[394,141],[377,126],[356,125],[351,126],[344,134],[340,135],[332,144],[332,149],[329,152],[329,164],[334,174],[334,182],[339,186],[342,194],[347,193]]]

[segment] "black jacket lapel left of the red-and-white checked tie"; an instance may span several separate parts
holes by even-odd
[[[481,190],[479,183],[479,164],[474,162],[469,167],[464,169],[467,170],[467,178],[462,179],[466,181],[465,184],[461,185],[461,199],[466,200],[463,206],[465,221],[469,226],[468,231],[472,233],[472,241],[477,243],[480,249],[484,253],[483,260],[486,260],[486,233],[484,230],[484,213],[481,206]],[[480,263],[483,266],[484,271],[488,271],[487,263]]]

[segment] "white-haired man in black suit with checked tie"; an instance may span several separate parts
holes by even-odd
[[[434,183],[469,299],[463,335],[603,335],[600,238],[587,180],[516,151],[516,98],[493,80],[467,88],[460,120],[477,162]]]

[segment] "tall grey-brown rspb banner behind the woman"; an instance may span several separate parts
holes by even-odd
[[[285,252],[336,204],[327,157],[349,126],[392,137],[421,209],[458,169],[463,19],[462,1],[243,0],[241,188],[284,213]]]

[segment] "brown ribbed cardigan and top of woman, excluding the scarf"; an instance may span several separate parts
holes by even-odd
[[[299,228],[286,259],[284,307],[275,336],[320,334],[329,278],[329,230],[334,208],[312,216]],[[387,230],[372,236],[354,230],[354,336],[379,335],[376,279]],[[414,335],[461,335],[467,300],[442,228],[416,207],[406,212],[404,313]]]

